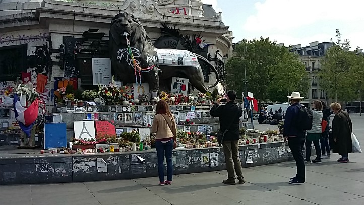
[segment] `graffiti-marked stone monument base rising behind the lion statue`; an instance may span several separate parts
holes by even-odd
[[[123,11],[140,20],[153,42],[162,36],[164,24],[179,29],[181,35],[200,35],[208,45],[206,56],[214,57],[218,50],[224,56],[231,47],[223,36],[228,26],[222,23],[221,13],[201,0],[0,1],[0,121],[16,125],[12,99],[5,90],[18,78],[36,87],[38,74],[47,77],[40,96],[48,111],[54,106],[55,89],[63,87],[66,79],[76,79],[76,88],[87,86],[91,75],[87,68],[92,58],[108,58],[110,23]],[[163,41],[168,48],[177,43]],[[205,85],[214,84],[215,74],[205,73]]]

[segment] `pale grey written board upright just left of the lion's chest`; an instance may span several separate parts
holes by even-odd
[[[92,58],[92,84],[107,85],[111,83],[111,59]]]

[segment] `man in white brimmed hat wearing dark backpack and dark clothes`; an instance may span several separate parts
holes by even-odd
[[[284,119],[283,136],[288,141],[288,146],[297,166],[297,174],[290,179],[289,183],[305,184],[305,162],[302,150],[304,148],[306,130],[312,127],[312,112],[299,103],[303,99],[299,92],[292,92],[288,98],[291,106],[288,107]]]

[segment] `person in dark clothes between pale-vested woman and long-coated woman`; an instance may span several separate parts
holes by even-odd
[[[327,121],[327,126],[324,132],[321,134],[320,144],[321,144],[321,159],[331,159],[330,157],[330,144],[329,144],[329,131],[330,131],[330,115],[331,109],[326,105],[324,101],[322,103],[322,120]]]

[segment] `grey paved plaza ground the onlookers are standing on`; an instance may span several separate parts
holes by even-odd
[[[364,116],[350,115],[353,132],[364,148]],[[255,128],[266,130],[258,125]],[[272,127],[274,128],[274,127]],[[224,185],[226,171],[175,175],[171,186],[158,186],[158,178],[66,184],[0,186],[0,204],[94,205],[94,204],[364,204],[362,153],[339,164],[339,155],[322,164],[306,166],[306,184],[290,185],[294,162],[243,169],[246,184]],[[313,157],[312,157],[313,159]]]

